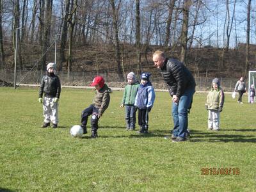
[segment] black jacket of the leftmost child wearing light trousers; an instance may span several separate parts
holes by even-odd
[[[55,74],[49,74],[43,76],[42,82],[39,88],[39,98],[43,97],[58,97],[60,98],[61,85],[60,79]]]

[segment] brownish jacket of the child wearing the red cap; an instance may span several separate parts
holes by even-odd
[[[104,86],[100,90],[95,90],[95,97],[93,99],[93,105],[96,108],[99,108],[99,115],[102,115],[104,111],[108,108],[110,102],[111,89],[108,88],[108,85]]]

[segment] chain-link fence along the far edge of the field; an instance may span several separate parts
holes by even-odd
[[[28,70],[18,70],[17,71],[17,85],[19,84],[40,84],[42,76],[45,74],[43,71],[28,71]],[[57,72],[60,77],[62,85],[70,86],[90,86],[92,79],[95,76],[104,77],[106,83],[111,87],[124,88],[125,82],[120,80],[115,72]],[[126,74],[125,74],[126,75]],[[0,70],[0,79],[8,83],[13,83],[14,72],[7,70]],[[139,77],[139,76],[137,76]],[[163,77],[161,77],[160,72],[152,75],[151,81],[156,89],[166,89]],[[207,91],[211,88],[211,82],[213,77],[195,77],[196,90],[197,91]],[[225,92],[233,92],[237,78],[221,78],[221,87]]]

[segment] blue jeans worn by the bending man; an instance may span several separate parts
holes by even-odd
[[[193,98],[195,89],[185,90],[179,99],[179,103],[172,103],[173,132],[175,137],[185,138],[188,129],[188,108]]]

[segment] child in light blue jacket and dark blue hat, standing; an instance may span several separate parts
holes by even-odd
[[[138,123],[140,131],[138,133],[148,133],[148,113],[151,111],[155,101],[155,91],[149,80],[151,76],[148,72],[141,74],[140,88],[137,92],[134,106],[138,108]]]

